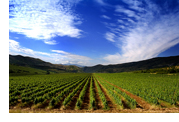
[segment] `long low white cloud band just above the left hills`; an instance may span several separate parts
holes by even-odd
[[[29,48],[25,48],[15,40],[9,40],[9,54],[12,55],[24,55],[40,58],[44,61],[55,64],[79,64],[79,65],[91,65],[92,60],[89,57],[72,54],[63,50],[50,50],[50,53],[35,51]]]

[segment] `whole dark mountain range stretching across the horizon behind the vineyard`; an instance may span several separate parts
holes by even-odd
[[[62,64],[52,64],[45,62],[38,58],[26,57],[21,55],[9,55],[10,69],[12,65],[21,67],[30,67],[43,71],[50,71],[53,73],[64,73],[64,72],[85,72],[85,73],[117,73],[117,72],[131,72],[138,70],[162,68],[179,66],[179,56],[171,57],[156,57],[152,59],[142,60],[138,62],[129,62],[123,64],[110,64],[110,65],[95,65],[95,66],[85,66],[78,67],[75,65],[62,65]]]

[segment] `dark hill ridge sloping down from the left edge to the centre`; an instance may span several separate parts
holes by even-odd
[[[73,66],[73,65],[65,66],[61,64],[52,64],[49,62],[42,61],[41,59],[38,59],[38,58],[26,57],[26,56],[21,56],[21,55],[9,55],[9,64],[35,68],[35,69],[50,71],[54,73],[82,72],[82,70],[77,66]]]

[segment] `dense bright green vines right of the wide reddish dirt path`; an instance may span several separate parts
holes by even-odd
[[[140,96],[151,104],[158,105],[158,100],[177,103],[179,95],[179,75],[115,73],[95,74],[107,81]],[[122,94],[125,96],[124,94]],[[127,98],[128,99],[128,98]],[[130,99],[128,99],[130,101]],[[132,102],[135,104],[135,101]]]

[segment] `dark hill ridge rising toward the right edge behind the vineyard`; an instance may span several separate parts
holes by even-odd
[[[130,62],[115,65],[96,65],[92,67],[84,67],[83,71],[86,73],[101,72],[101,73],[117,73],[117,72],[131,72],[137,70],[146,70],[162,67],[171,67],[179,65],[179,56],[171,57],[157,57],[138,62]]]

